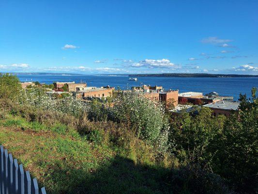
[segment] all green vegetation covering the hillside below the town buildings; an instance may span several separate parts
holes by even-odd
[[[16,77],[1,79],[20,90]],[[252,93],[226,118],[207,108],[172,114],[137,94],[84,103],[27,89],[0,96],[0,144],[48,194],[257,193]]]

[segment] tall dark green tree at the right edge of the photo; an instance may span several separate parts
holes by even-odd
[[[216,173],[228,178],[239,191],[258,193],[258,99],[240,95],[239,112],[225,123]]]

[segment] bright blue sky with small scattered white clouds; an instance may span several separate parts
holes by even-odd
[[[0,72],[258,74],[258,0],[1,0]]]

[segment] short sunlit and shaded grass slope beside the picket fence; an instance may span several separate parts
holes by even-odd
[[[61,124],[48,128],[9,114],[0,121],[0,144],[49,194],[169,193],[163,182],[168,169],[155,165],[148,151],[96,145],[66,128]],[[142,161],[136,162],[138,154]]]

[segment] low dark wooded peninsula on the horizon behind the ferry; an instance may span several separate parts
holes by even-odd
[[[208,74],[208,73],[161,73],[129,74],[129,77],[176,77],[176,78],[258,78],[258,75]]]

